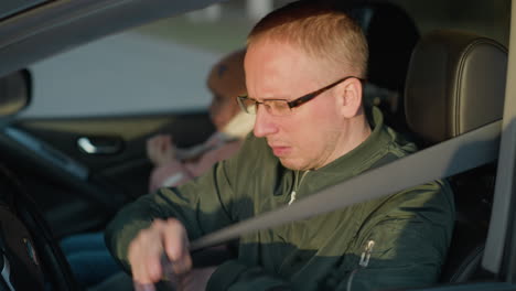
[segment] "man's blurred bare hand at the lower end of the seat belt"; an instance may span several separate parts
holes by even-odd
[[[129,245],[128,259],[136,283],[153,285],[163,278],[164,270],[160,261],[163,252],[172,262],[172,276],[181,278],[192,269],[186,229],[178,219],[155,219],[151,227],[141,230]]]

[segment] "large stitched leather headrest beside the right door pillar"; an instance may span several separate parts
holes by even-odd
[[[460,31],[429,33],[407,75],[409,128],[432,144],[501,119],[506,72],[502,44]]]

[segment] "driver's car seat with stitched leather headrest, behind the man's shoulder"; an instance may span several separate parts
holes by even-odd
[[[420,146],[499,120],[506,67],[507,50],[487,37],[451,30],[423,36],[412,53],[405,89],[407,125]],[[466,281],[479,269],[495,169],[487,164],[449,179],[456,219],[442,282]]]

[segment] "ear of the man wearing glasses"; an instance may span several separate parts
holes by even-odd
[[[336,87],[344,117],[352,118],[358,115],[362,107],[362,82],[358,78],[348,78]]]

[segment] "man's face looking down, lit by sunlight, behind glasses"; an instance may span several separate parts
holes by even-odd
[[[250,98],[293,100],[344,76],[331,76],[321,62],[279,42],[259,41],[245,58]],[[254,133],[265,137],[281,163],[292,170],[319,169],[342,155],[347,120],[343,98],[330,89],[288,116],[272,116],[259,105]]]

